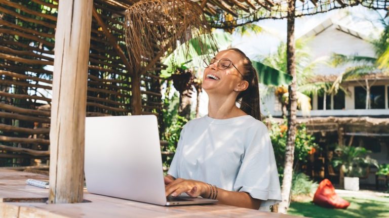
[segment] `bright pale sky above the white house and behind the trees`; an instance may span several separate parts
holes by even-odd
[[[371,35],[372,37],[377,37],[378,33],[383,29],[379,21],[379,14],[384,17],[385,13],[386,12],[384,11],[377,12],[358,6],[297,18],[295,23],[295,38],[299,38],[329,18],[350,29],[365,34],[367,33],[367,35]],[[347,14],[349,14],[349,16],[346,16]],[[249,58],[254,60],[258,59],[258,56],[267,56],[269,53],[275,52],[281,41],[286,42],[287,35],[286,19],[261,20],[256,22],[256,24],[265,29],[266,32],[258,35],[245,35],[243,37],[234,34],[231,43],[232,47],[241,49]]]

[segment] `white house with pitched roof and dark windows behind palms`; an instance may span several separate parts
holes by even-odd
[[[307,38],[307,47],[312,54],[312,60],[331,57],[332,54],[358,55],[375,57],[374,48],[364,33],[357,32],[347,26],[338,24],[333,19],[327,19],[302,38]],[[318,77],[327,81],[335,78],[351,65],[332,67],[328,64],[318,64],[314,69]],[[370,105],[366,109],[366,80],[370,87]],[[312,96],[310,116],[378,116],[389,117],[389,76],[371,74],[364,78],[342,82],[346,93],[326,96]],[[266,96],[262,113],[281,116],[281,105],[275,96]],[[325,108],[324,105],[326,105]],[[298,115],[302,115],[301,111]]]

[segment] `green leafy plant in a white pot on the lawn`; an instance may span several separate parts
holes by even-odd
[[[370,150],[363,147],[338,146],[333,159],[334,167],[340,166],[344,173],[344,189],[358,191],[359,178],[368,173],[369,166],[378,167],[377,161],[369,157]]]

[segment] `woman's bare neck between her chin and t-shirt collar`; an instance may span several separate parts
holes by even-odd
[[[228,96],[208,94],[208,116],[214,119],[228,119],[246,115],[235,104],[237,95],[232,93]]]

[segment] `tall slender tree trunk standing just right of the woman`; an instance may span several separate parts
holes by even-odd
[[[292,188],[294,144],[296,139],[296,69],[295,69],[295,41],[294,41],[294,18],[296,1],[288,2],[288,34],[287,34],[287,71],[292,76],[292,82],[289,85],[289,104],[288,104],[288,133],[287,145],[285,151],[284,178],[282,180],[282,202],[279,205],[279,211],[286,213],[289,208],[290,191]]]

